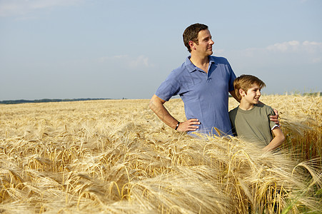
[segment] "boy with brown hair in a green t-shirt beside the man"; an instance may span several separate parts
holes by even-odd
[[[256,76],[241,75],[236,78],[233,87],[241,103],[229,111],[229,118],[235,136],[259,143],[264,147],[263,151],[272,151],[283,143],[285,137],[281,128],[269,120],[269,116],[274,115],[273,109],[259,102],[264,86],[265,83]]]

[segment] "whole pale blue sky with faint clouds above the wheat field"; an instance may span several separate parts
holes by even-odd
[[[263,93],[322,91],[322,1],[0,0],[0,101],[151,98],[209,26],[213,55]]]

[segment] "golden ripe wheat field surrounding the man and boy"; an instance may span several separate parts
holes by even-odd
[[[0,213],[321,213],[321,97],[261,101],[286,136],[274,153],[173,131],[149,100],[0,105]]]

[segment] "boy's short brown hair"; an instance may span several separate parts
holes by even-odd
[[[236,96],[241,99],[239,89],[243,89],[243,91],[245,91],[245,93],[247,94],[247,90],[251,88],[253,84],[257,84],[261,88],[266,86],[266,84],[256,76],[246,74],[238,76],[235,81],[233,81],[233,88],[235,88]]]

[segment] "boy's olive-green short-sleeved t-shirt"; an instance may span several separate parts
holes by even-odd
[[[248,111],[239,106],[229,111],[234,135],[261,146],[268,145],[273,139],[271,129],[276,123],[270,121],[271,115],[275,115],[273,108],[262,104],[256,104]]]

